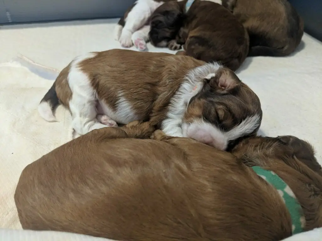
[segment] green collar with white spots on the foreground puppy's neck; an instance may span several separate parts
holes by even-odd
[[[305,227],[303,210],[289,185],[272,171],[265,170],[260,166],[253,166],[252,169],[257,175],[275,187],[279,192],[279,195],[284,200],[286,208],[289,210],[292,219],[292,234],[303,232],[303,228]]]

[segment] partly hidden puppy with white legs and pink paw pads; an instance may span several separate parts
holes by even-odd
[[[148,41],[149,18],[163,3],[176,0],[137,0],[125,12],[115,26],[114,36],[123,47],[133,44],[139,50],[146,49]]]

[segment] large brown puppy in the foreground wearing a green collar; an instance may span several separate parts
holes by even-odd
[[[322,226],[322,177],[280,138],[244,141],[235,157],[160,130],[133,139],[152,132],[148,122],[122,128],[93,130],[23,170],[14,200],[24,229],[274,241]],[[305,145],[301,152],[313,156]],[[265,180],[271,171],[282,189]]]

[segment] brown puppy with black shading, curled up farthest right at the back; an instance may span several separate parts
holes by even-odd
[[[247,29],[248,56],[286,56],[301,42],[304,23],[288,0],[223,0]]]

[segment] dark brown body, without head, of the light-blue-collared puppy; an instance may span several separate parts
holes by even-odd
[[[188,11],[190,30],[184,45],[186,55],[206,62],[219,61],[237,70],[249,50],[249,36],[237,18],[220,4],[198,1]]]

